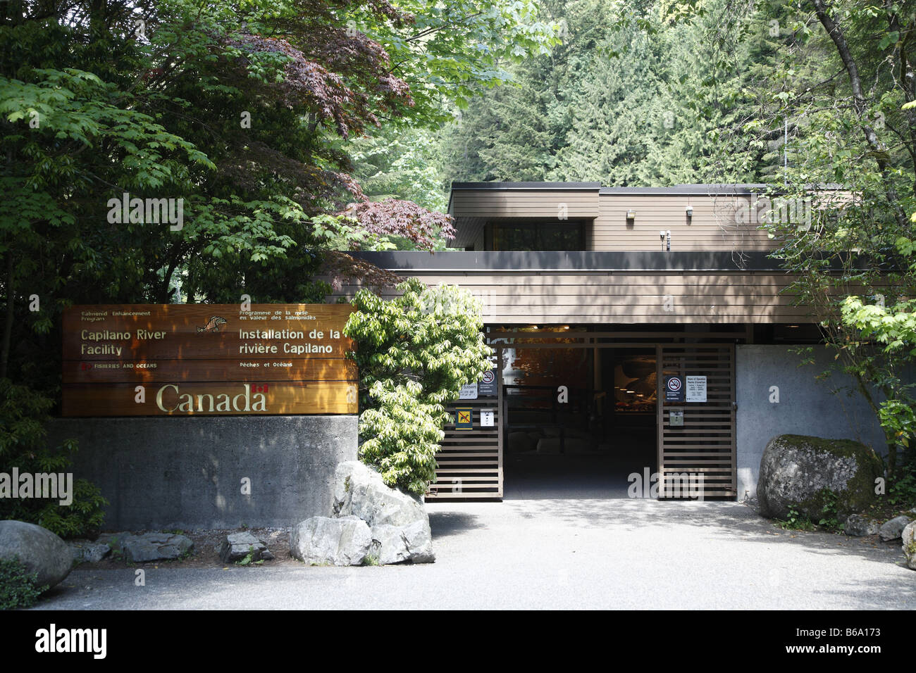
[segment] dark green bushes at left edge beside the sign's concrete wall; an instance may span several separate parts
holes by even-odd
[[[68,472],[74,440],[48,447],[45,424],[52,401],[24,385],[0,379],[0,472]],[[73,482],[71,505],[59,498],[2,498],[0,518],[38,524],[60,537],[79,537],[101,528],[107,501],[84,479]]]

